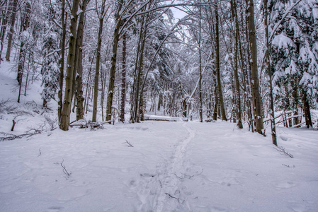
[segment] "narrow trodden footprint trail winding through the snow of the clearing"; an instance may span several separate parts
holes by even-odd
[[[186,122],[182,126],[188,135],[175,144],[173,154],[157,165],[155,175],[141,175],[143,180],[137,186],[140,189],[137,193],[142,204],[138,211],[174,211],[186,201],[186,196],[180,191],[181,177],[178,174],[187,170],[184,167],[186,148],[195,137],[195,131]]]

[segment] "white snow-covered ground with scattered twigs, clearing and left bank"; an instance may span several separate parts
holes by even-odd
[[[294,158],[229,122],[51,131],[56,111],[40,107],[40,82],[18,104],[10,68],[0,65],[0,137],[42,133],[0,142],[1,212],[318,211],[317,130],[278,127]]]

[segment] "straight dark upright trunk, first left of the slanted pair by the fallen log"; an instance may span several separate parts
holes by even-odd
[[[121,73],[121,105],[120,122],[125,122],[125,99],[126,99],[126,34],[123,35],[123,69]]]

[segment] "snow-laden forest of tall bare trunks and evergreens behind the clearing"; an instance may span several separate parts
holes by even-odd
[[[75,116],[97,126],[154,112],[247,123],[264,135],[271,123],[276,144],[276,122],[317,122],[318,1],[2,0],[0,8],[1,62],[14,64],[17,101],[41,81],[42,107],[55,107],[64,131]]]

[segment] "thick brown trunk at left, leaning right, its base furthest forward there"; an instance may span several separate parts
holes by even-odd
[[[71,34],[69,36],[69,54],[67,56],[67,76],[65,78],[64,104],[62,107],[61,122],[59,123],[59,129],[64,131],[69,130],[69,114],[71,113],[72,106],[72,86],[75,65],[74,58],[76,53],[76,25],[78,8],[79,0],[74,0],[71,11],[71,25],[69,27]]]

